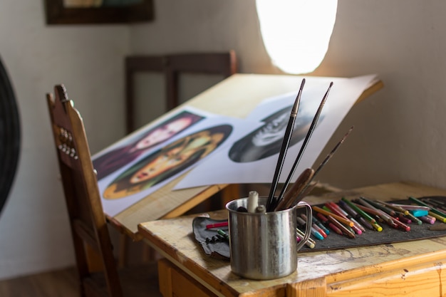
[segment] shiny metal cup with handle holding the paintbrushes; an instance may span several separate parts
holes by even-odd
[[[267,197],[259,197],[266,205]],[[279,212],[237,212],[247,208],[248,198],[226,204],[229,211],[229,249],[232,272],[244,278],[272,279],[287,276],[297,269],[297,251],[311,234],[312,211],[309,204],[299,202]],[[297,242],[296,209],[306,207],[304,240]]]

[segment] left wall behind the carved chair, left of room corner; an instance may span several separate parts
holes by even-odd
[[[0,216],[0,278],[73,264],[45,94],[66,84],[95,152],[124,135],[128,26],[46,26],[43,1],[0,2],[0,56],[14,84],[22,148]]]

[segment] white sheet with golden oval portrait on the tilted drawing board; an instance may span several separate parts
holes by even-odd
[[[247,123],[220,116],[203,118],[162,145],[155,145],[134,160],[126,160],[126,165],[98,181],[103,211],[110,216],[119,214],[221,150],[225,143],[230,144],[259,126],[257,122]],[[137,134],[142,135],[145,130]],[[135,142],[139,137],[131,138]],[[113,147],[122,147],[124,143],[130,143],[130,139]]]

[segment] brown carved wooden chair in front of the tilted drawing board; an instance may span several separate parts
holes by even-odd
[[[71,224],[81,296],[161,296],[156,264],[118,271],[83,120],[63,85],[47,95],[56,154]],[[92,272],[85,247],[95,251],[102,271]],[[128,294],[128,295],[127,295]]]

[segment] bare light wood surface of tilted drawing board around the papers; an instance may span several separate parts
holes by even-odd
[[[167,113],[162,118],[185,105],[202,109],[209,113],[245,118],[256,105],[265,98],[296,91],[301,83],[301,76],[297,75],[259,75],[234,74],[214,87],[188,100],[180,107]],[[330,78],[312,78],[316,80],[330,80]],[[383,88],[380,80],[375,80],[362,93],[357,102],[367,98],[377,90]],[[242,103],[242,104],[241,104]],[[182,177],[184,177],[183,175]],[[206,187],[195,187],[172,191],[182,177],[175,179],[162,189],[133,204],[115,217],[108,220],[120,231],[139,240],[138,224],[155,219],[178,217],[192,207],[227,187],[227,184],[217,184]]]

